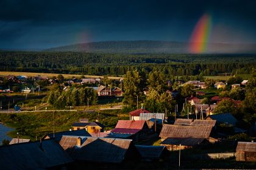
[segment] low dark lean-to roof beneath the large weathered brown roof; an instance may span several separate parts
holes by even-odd
[[[201,144],[205,138],[166,138],[166,140],[162,141],[160,144],[175,144],[175,145],[183,145],[183,146],[196,146],[197,144]]]

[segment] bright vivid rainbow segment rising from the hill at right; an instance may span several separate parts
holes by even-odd
[[[206,51],[211,27],[212,18],[205,13],[197,22],[191,35],[189,49],[191,53],[204,53]]]

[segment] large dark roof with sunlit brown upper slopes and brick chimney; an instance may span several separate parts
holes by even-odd
[[[82,137],[79,147],[77,138],[63,136],[60,140],[60,145],[74,160],[121,163],[132,144],[132,140],[127,139]]]

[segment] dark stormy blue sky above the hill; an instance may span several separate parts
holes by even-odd
[[[191,41],[211,18],[209,42],[256,43],[253,0],[0,0],[0,49],[47,49],[83,42]]]

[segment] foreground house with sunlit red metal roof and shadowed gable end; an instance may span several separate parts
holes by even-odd
[[[145,120],[118,120],[108,137],[129,138],[139,141],[148,136],[149,127]]]

